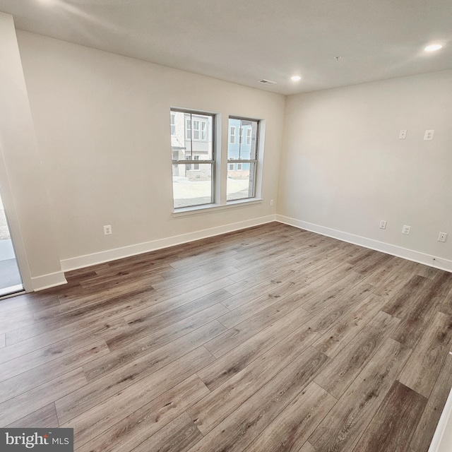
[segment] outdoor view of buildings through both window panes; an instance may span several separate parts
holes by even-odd
[[[214,202],[215,115],[170,113],[174,208]],[[230,117],[227,201],[256,196],[258,121]]]

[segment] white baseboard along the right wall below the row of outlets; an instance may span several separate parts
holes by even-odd
[[[295,218],[285,217],[283,215],[276,215],[276,221],[299,227],[317,234],[326,235],[333,239],[339,239],[343,242],[349,242],[355,245],[364,246],[364,248],[374,249],[381,251],[392,256],[408,259],[408,261],[414,261],[417,263],[423,263],[426,266],[439,268],[440,270],[446,270],[452,272],[452,261],[437,256],[431,256],[429,254],[421,253],[420,251],[414,251],[412,249],[406,249],[401,246],[391,245],[384,242],[379,242],[374,239],[367,239],[355,234],[349,234],[348,232],[338,231],[331,229],[330,227],[324,227],[320,225],[314,225],[306,221],[296,220]]]

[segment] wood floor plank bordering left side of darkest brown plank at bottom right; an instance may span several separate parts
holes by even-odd
[[[350,452],[405,364],[410,349],[386,339],[357,379],[309,436],[316,451]]]

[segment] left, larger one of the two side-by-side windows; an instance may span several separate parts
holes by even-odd
[[[172,187],[174,208],[213,203],[215,115],[172,109]],[[190,163],[187,162],[190,160]]]

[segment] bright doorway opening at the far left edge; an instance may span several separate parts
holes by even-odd
[[[22,291],[22,277],[0,193],[0,297]]]

